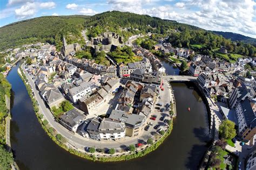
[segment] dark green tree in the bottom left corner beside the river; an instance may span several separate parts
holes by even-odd
[[[0,169],[11,169],[11,164],[14,162],[12,153],[8,152],[3,145],[0,145]]]

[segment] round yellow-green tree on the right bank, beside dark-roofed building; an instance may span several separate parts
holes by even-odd
[[[235,129],[235,123],[229,120],[223,121],[219,126],[219,135],[224,139],[232,139],[237,134]]]

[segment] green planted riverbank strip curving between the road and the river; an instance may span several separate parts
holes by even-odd
[[[22,68],[20,67],[18,69],[18,74],[19,76],[21,76],[21,79],[23,80],[25,86],[26,86],[26,89],[29,93],[29,96],[31,98],[31,101],[33,103],[33,108],[36,112],[36,116],[37,116],[37,119],[39,121],[39,123],[41,123],[41,126],[42,128],[45,130],[45,132],[48,134],[48,136],[50,136],[50,138],[55,141],[55,143],[57,145],[59,145],[60,147],[64,148],[66,151],[68,151],[69,153],[72,153],[72,154],[75,154],[75,155],[78,155],[79,157],[82,157],[82,158],[86,158],[86,159],[89,159],[89,160],[93,160],[93,161],[122,161],[122,160],[130,160],[130,159],[134,159],[134,158],[139,158],[139,157],[143,157],[144,155],[156,150],[156,148],[161,144],[163,143],[164,139],[169,136],[169,134],[171,133],[172,131],[172,121],[169,125],[169,128],[166,130],[166,132],[163,134],[163,136],[160,137],[160,139],[156,139],[156,140],[153,140],[153,144],[150,145],[150,144],[145,144],[143,145],[142,147],[139,147],[137,149],[137,152],[127,152],[127,151],[124,151],[122,153],[115,153],[113,155],[110,155],[110,154],[100,154],[100,153],[85,153],[85,152],[81,152],[81,151],[78,151],[74,148],[71,148],[72,144],[69,145],[68,143],[66,142],[63,142],[63,141],[60,141],[58,140],[57,138],[57,134],[56,133],[53,133],[55,130],[50,127],[47,124],[45,124],[45,119],[44,119],[44,116],[41,116],[42,114],[39,113],[39,108],[38,108],[38,103],[37,101],[35,100],[34,96],[33,96],[33,93],[32,93],[32,90],[30,88],[31,84],[29,84],[29,81],[28,79],[26,78],[25,76],[25,73],[24,71],[22,70]],[[51,130],[50,130],[51,129]],[[53,129],[53,130],[52,130]],[[53,132],[52,132],[53,131]],[[66,139],[67,141],[68,139]]]

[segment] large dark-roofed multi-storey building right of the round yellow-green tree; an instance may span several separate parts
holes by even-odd
[[[256,134],[256,116],[250,100],[241,101],[235,108],[238,118],[238,131],[241,140],[249,141]]]

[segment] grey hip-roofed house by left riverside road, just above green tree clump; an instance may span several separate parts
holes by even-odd
[[[59,107],[59,104],[65,101],[65,98],[60,93],[58,89],[50,89],[44,95],[44,100],[49,105],[50,108],[52,107]]]

